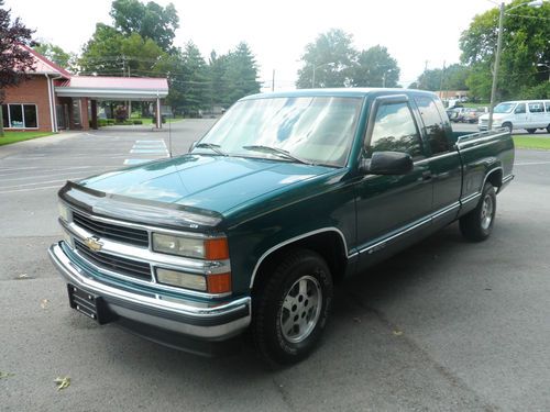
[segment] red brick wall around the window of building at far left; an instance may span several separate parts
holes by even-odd
[[[45,76],[32,76],[31,79],[21,82],[16,87],[4,89],[6,103],[31,103],[36,104],[38,116],[38,130],[41,132],[52,131],[50,116],[50,99],[47,96],[47,81]],[[13,129],[15,130],[15,129]],[[16,129],[18,131],[21,129]],[[32,129],[35,131],[36,129]]]

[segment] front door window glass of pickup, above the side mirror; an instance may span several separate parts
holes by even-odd
[[[424,157],[420,136],[407,103],[383,103],[374,121],[367,156],[374,152],[404,152],[414,159]]]

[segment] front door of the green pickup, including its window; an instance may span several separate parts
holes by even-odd
[[[420,131],[407,96],[376,98],[371,107],[364,158],[404,152],[415,162],[402,176],[365,175],[355,183],[359,269],[411,243],[430,226],[432,185]]]

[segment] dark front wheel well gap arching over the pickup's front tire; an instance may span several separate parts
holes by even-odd
[[[288,255],[288,252],[294,249],[309,249],[318,253],[327,261],[332,275],[332,281],[337,283],[343,278],[348,265],[345,246],[340,234],[329,231],[293,242],[265,257],[257,268],[253,288],[261,285],[262,278],[274,269]]]

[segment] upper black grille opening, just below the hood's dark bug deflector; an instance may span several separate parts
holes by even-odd
[[[78,212],[73,212],[73,222],[88,232],[112,241],[123,242],[136,246],[148,246],[148,233],[141,229],[120,226],[92,220]]]

